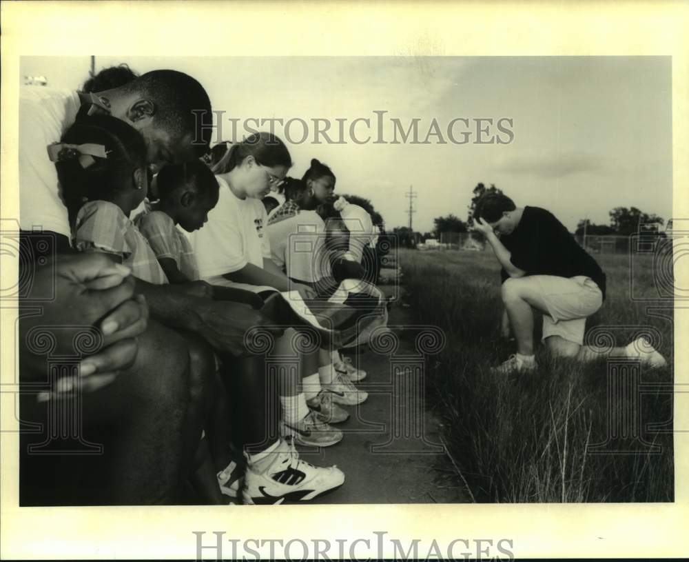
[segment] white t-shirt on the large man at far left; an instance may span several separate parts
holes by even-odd
[[[45,86],[19,89],[19,223],[70,238],[67,208],[60,197],[48,145],[60,140],[81,107],[79,94]]]

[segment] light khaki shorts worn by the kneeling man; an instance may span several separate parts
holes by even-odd
[[[595,281],[584,275],[531,275],[527,279],[537,285],[548,308],[548,314],[543,314],[542,340],[559,336],[583,345],[586,319],[603,304],[603,293]]]

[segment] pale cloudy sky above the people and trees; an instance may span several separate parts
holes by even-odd
[[[672,214],[670,57],[98,56],[96,70],[123,62],[137,72],[173,68],[198,79],[214,110],[224,112],[225,139],[230,119],[238,119],[238,135],[247,119],[294,119],[287,130],[274,125],[294,162],[289,174],[301,177],[311,158],[320,159],[336,174],[336,192],[370,199],[389,229],[408,223],[410,186],[413,228],[427,232],[434,217],[466,220],[478,182],[495,183],[517,205],[551,210],[570,230],[584,218],[607,224],[618,206]],[[90,57],[21,60],[21,74],[43,75],[54,88],[79,88],[89,68]],[[349,134],[357,118],[371,125],[358,121]],[[298,119],[308,127],[305,141]],[[329,121],[333,141],[343,123],[345,142],[319,139],[313,119]],[[429,143],[402,142],[392,119],[404,130],[417,119],[418,141]],[[456,119],[468,120],[451,129],[466,143],[449,138]],[[477,119],[493,124],[479,121],[488,129],[479,133]],[[502,121],[511,134],[497,129],[500,119],[511,119]],[[426,139],[429,130],[436,134]]]

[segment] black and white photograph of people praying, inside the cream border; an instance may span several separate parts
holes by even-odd
[[[677,61],[419,37],[18,53],[16,509],[675,505]],[[231,527],[194,527],[191,556],[313,557],[223,552]],[[328,555],[518,547],[375,531]]]

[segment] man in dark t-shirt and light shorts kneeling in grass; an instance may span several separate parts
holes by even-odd
[[[533,370],[533,309],[543,313],[543,336],[560,357],[592,361],[599,352],[584,345],[586,319],[605,299],[606,276],[600,265],[555,216],[538,207],[517,207],[504,194],[477,201],[475,230],[481,232],[502,265],[503,333],[511,330],[517,353],[497,372]],[[646,339],[609,352],[638,357],[651,366],[666,364]]]

